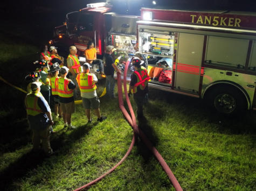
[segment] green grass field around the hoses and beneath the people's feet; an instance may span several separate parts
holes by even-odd
[[[0,54],[0,58],[5,56],[0,76],[25,88],[23,78],[31,64],[31,55],[36,57],[38,50],[25,42],[17,46],[23,45],[30,51],[21,48],[15,58]],[[17,53],[13,48],[7,52]],[[18,56],[20,53],[22,56]],[[98,86],[98,94],[103,90],[102,84]],[[58,133],[51,138],[55,155],[35,156],[30,152],[31,131],[23,108],[25,95],[2,82],[0,85],[3,90],[0,93],[0,190],[72,190],[112,168],[129,148],[132,128],[124,120],[117,99],[103,97],[101,111],[108,117],[106,121],[96,123],[93,116],[93,123],[86,124],[84,109],[77,105],[72,123],[78,128],[66,130],[57,121],[54,130]],[[255,112],[220,116],[206,108],[201,100],[150,89],[145,114],[146,120],[138,121],[139,127],[184,190],[256,190]],[[89,190],[174,188],[139,140],[124,163]]]

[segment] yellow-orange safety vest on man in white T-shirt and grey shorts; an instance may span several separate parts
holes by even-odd
[[[81,92],[92,92],[97,88],[96,84],[93,82],[93,75],[90,73],[78,74],[77,83]]]

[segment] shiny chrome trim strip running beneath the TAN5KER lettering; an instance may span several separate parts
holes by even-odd
[[[244,30],[244,29],[236,29],[236,28],[223,28],[223,27],[215,27],[215,26],[189,25],[189,24],[179,24],[179,23],[164,23],[164,22],[146,21],[146,20],[139,20],[136,23],[137,24],[144,24],[144,25],[162,25],[162,26],[170,26],[170,27],[195,28],[195,29],[199,29],[199,30],[204,29],[204,30],[213,30],[213,31],[222,31],[222,32],[256,34],[256,31],[253,31],[253,30]]]

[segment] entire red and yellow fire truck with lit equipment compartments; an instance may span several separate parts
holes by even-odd
[[[124,16],[106,3],[91,4],[68,13],[53,41],[75,45],[80,57],[88,40],[99,55],[113,45],[120,62],[139,50],[150,87],[202,98],[218,112],[233,114],[256,108],[255,26],[255,13],[141,8],[140,16]]]

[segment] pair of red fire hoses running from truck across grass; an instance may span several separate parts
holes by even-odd
[[[106,177],[106,175],[112,173],[115,170],[115,168],[117,166],[119,166],[128,157],[130,151],[132,151],[132,148],[133,148],[134,143],[135,143],[135,136],[136,135],[139,135],[141,137],[142,141],[147,145],[148,149],[151,152],[153,152],[156,159],[159,161],[159,163],[163,167],[163,170],[165,171],[165,173],[167,173],[167,175],[168,175],[169,179],[171,180],[172,185],[174,185],[175,189],[177,191],[182,191],[181,186],[179,185],[179,183],[178,183],[177,179],[175,178],[174,174],[171,172],[167,163],[164,161],[163,157],[160,155],[160,153],[156,150],[156,148],[152,145],[152,143],[148,140],[146,135],[144,135],[144,133],[138,128],[138,126],[136,124],[136,117],[134,115],[133,107],[130,104],[130,99],[128,97],[128,92],[127,92],[127,84],[126,84],[126,82],[127,82],[126,77],[127,77],[127,70],[128,70],[129,62],[130,62],[130,60],[127,61],[126,67],[124,69],[123,87],[124,87],[124,94],[126,96],[126,101],[127,101],[127,104],[128,104],[128,108],[129,108],[129,111],[130,111],[130,114],[132,115],[132,117],[129,115],[126,108],[123,106],[122,82],[121,82],[121,75],[119,73],[117,73],[117,89],[118,89],[118,97],[119,97],[119,107],[120,107],[123,115],[126,117],[127,121],[130,123],[130,125],[133,127],[133,130],[134,130],[133,131],[132,143],[130,144],[129,149],[126,152],[126,155],[124,155],[124,157],[119,161],[119,163],[117,163],[112,169],[110,169],[105,174],[101,175],[99,178],[87,183],[84,186],[81,186],[80,188],[75,189],[74,191],[78,191],[78,190],[81,190],[81,189],[88,188],[89,186],[93,185],[94,183],[100,181],[102,178]]]

